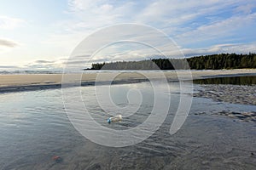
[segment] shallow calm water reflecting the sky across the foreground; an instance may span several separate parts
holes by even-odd
[[[189,116],[174,135],[169,133],[180,95],[170,83],[171,107],[166,121],[140,144],[111,148],[90,142],[69,122],[61,89],[0,94],[0,169],[253,169],[256,165],[256,126],[216,111],[256,111],[255,105],[231,105],[194,98]],[[137,127],[150,114],[154,94],[150,83],[114,85],[113,103],[125,107],[126,93],[140,89],[143,103],[123,122],[107,123],[108,113],[95,100],[94,87],[83,87],[81,96],[92,117],[102,126]],[[197,86],[195,86],[196,90]],[[72,95],[78,88],[68,88]],[[162,98],[165,102],[165,97]],[[136,100],[136,99],[135,99]],[[76,104],[76,101],[71,101]],[[79,107],[74,108],[81,110]],[[111,107],[108,108],[111,111]],[[206,112],[209,114],[197,115]],[[52,160],[61,156],[60,161]]]

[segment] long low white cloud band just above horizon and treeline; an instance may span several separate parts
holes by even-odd
[[[37,59],[31,62],[28,62],[26,65],[22,65],[17,67],[17,69],[22,68],[23,70],[46,70],[46,71],[62,71],[64,66],[68,62],[69,66],[79,66],[80,68],[90,68],[91,63],[96,62],[111,62],[111,61],[122,61],[122,60],[143,60],[143,59],[153,59],[155,56],[160,56],[160,54],[156,53],[154,49],[143,48],[137,49],[134,46],[132,51],[124,51],[123,53],[119,52],[119,50],[115,50],[116,47],[106,48],[104,50],[111,52],[104,53],[102,51],[99,54],[96,54],[94,58],[90,60],[86,60],[90,58],[90,56],[77,56],[73,59],[68,58],[59,58],[59,59]],[[250,44],[241,44],[241,43],[229,43],[229,44],[217,44],[207,48],[181,48],[180,49],[186,57],[192,57],[197,55],[205,55],[205,54],[226,54],[226,53],[236,53],[236,54],[248,54],[248,53],[256,53],[256,42]],[[180,51],[173,50],[169,53],[170,58],[175,58],[175,56],[180,55]],[[3,68],[10,69],[9,66],[2,66]],[[0,66],[0,69],[2,68]],[[15,69],[15,68],[13,68]],[[68,69],[68,68],[67,68]]]

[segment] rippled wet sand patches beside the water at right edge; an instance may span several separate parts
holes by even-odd
[[[256,105],[256,85],[203,84],[197,88],[193,96],[212,99],[219,103]],[[195,115],[207,115],[207,112],[203,111]],[[230,117],[234,121],[256,122],[255,111],[212,111],[210,115]]]

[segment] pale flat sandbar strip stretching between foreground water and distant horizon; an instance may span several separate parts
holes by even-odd
[[[114,79],[113,83],[137,83],[148,81],[146,77],[154,80],[160,80],[160,75],[164,74],[166,79],[170,82],[178,81],[175,71],[143,71],[143,75],[139,74],[140,71],[122,72]],[[188,71],[177,71],[179,78],[188,80]],[[116,73],[116,72],[115,72]],[[102,72],[101,74],[105,79],[100,82],[104,84],[109,82],[108,77],[115,74],[111,71]],[[256,69],[235,69],[235,70],[206,70],[206,71],[191,71],[193,79],[204,79],[213,77],[239,77],[239,76],[256,76]],[[82,78],[80,74],[69,74],[74,77],[73,82],[81,81],[81,86],[94,85],[98,73],[83,72]],[[13,74],[13,75],[0,75],[0,94],[33,90],[44,90],[61,88],[62,74]],[[72,84],[72,82],[71,82]]]

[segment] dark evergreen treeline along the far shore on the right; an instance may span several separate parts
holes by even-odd
[[[188,59],[148,59],[91,65],[91,70],[218,70],[241,68],[256,68],[256,54],[212,54]]]

